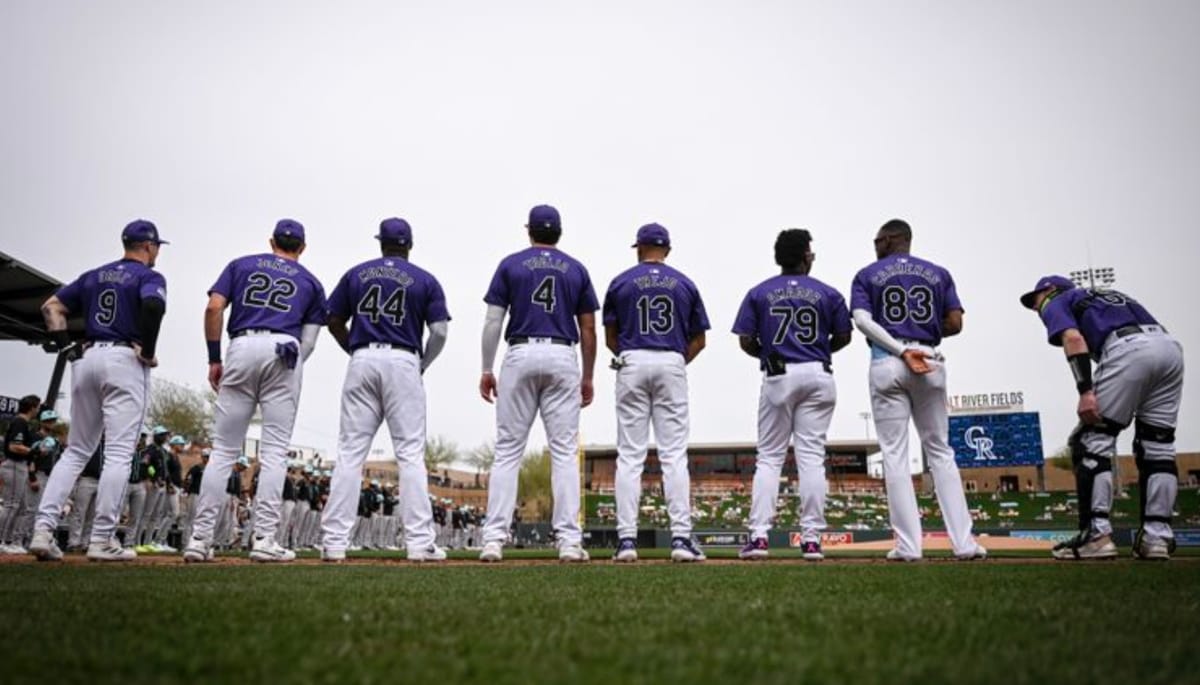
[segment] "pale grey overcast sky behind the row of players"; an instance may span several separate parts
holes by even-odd
[[[331,289],[377,254],[379,220],[404,217],[454,317],[425,375],[430,434],[470,447],[494,433],[481,299],[528,209],[559,208],[560,247],[601,296],[656,221],[714,328],[690,366],[691,438],[724,441],[755,438],[760,375],[728,331],[776,271],[775,234],[809,228],[814,276],[848,293],[902,217],[966,307],[950,392],[1024,391],[1052,450],[1075,391],[1016,301],[1037,277],[1112,266],[1200,350],[1196,36],[1188,1],[6,0],[0,250],[70,281],[119,257],[127,221],[156,222],[172,245],[155,373],[202,387],[205,292],[276,220],[307,227],[302,262]],[[0,393],[44,390],[48,355],[2,351]],[[346,360],[323,335],[295,443],[334,447]],[[587,443],[616,437],[607,360]],[[856,334],[830,438],[864,435],[868,363]]]

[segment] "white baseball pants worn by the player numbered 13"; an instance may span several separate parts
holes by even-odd
[[[662,467],[673,537],[691,536],[691,479],[688,475],[688,368],[677,351],[622,353],[617,372],[617,535],[637,537],[650,425]]]

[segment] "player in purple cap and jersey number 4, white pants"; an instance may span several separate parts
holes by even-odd
[[[487,483],[481,561],[499,561],[517,499],[517,473],[534,416],[541,414],[550,443],[553,527],[558,558],[587,561],[580,529],[580,408],[592,403],[596,356],[596,294],[588,270],[558,250],[558,210],[529,210],[530,247],[504,258],[484,301],[484,372],[479,393],[496,402],[496,461]],[[492,374],[504,314],[509,343],[499,383]],[[575,344],[583,356],[580,373]]]

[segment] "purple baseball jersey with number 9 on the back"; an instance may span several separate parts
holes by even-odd
[[[167,280],[133,259],[104,264],[58,292],[71,313],[83,313],[90,341],[142,342],[138,318],[144,298],[167,301]]]

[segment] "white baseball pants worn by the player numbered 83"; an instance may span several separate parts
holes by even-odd
[[[954,450],[949,445],[946,365],[932,359],[937,354],[934,348],[919,345],[919,349],[931,357],[931,369],[925,374],[912,373],[898,356],[871,360],[871,413],[883,452],[883,479],[895,549],[902,557],[920,557],[922,553],[920,513],[908,468],[911,417],[917,426],[929,473],[934,476],[937,505],[942,510],[954,553],[971,554],[976,549],[971,511],[962,493],[959,467],[954,463]]]

